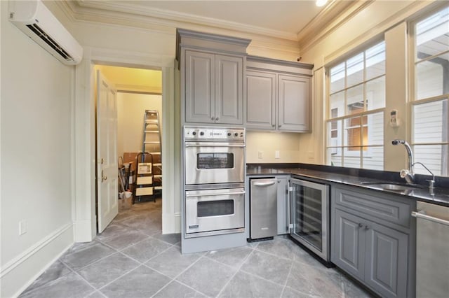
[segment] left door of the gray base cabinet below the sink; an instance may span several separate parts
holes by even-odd
[[[365,274],[365,234],[363,220],[335,209],[333,253],[330,260],[352,276],[363,281]]]

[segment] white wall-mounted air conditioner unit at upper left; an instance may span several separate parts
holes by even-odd
[[[9,1],[9,20],[60,62],[81,62],[83,48],[41,0]]]

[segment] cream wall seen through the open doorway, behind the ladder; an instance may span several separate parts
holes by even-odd
[[[142,133],[145,110],[159,111],[162,124],[162,96],[155,94],[123,93],[117,94],[119,104],[119,156],[123,152],[142,151]],[[162,128],[162,127],[161,127]]]

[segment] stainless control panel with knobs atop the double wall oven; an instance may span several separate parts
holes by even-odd
[[[186,141],[244,141],[245,129],[239,127],[184,127],[184,139]]]

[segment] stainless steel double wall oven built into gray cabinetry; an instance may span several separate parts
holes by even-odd
[[[245,129],[184,127],[185,237],[244,232]]]

